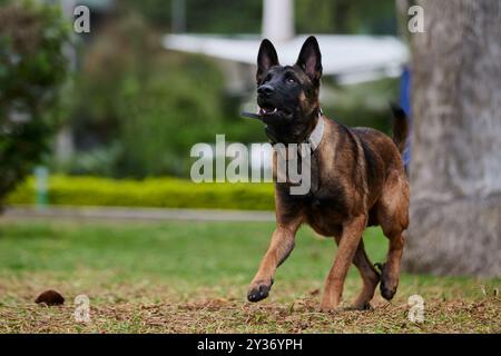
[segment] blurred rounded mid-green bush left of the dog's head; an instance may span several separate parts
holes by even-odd
[[[186,175],[190,147],[213,141],[222,126],[223,78],[207,60],[157,68],[146,78],[126,78],[119,93],[120,176]]]

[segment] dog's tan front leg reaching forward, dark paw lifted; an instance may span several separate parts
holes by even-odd
[[[269,248],[261,261],[247,293],[249,301],[259,301],[268,296],[276,268],[288,257],[294,248],[294,240],[299,224],[278,226],[272,236]]]

